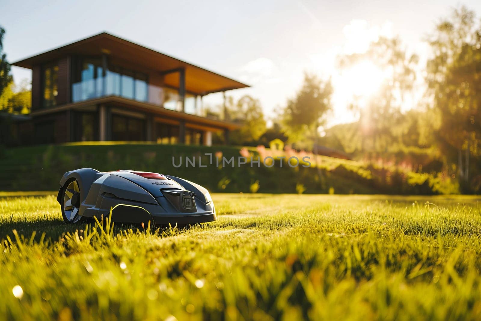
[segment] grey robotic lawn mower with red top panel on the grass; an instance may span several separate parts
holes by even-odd
[[[151,172],[81,168],[60,180],[57,201],[65,222],[108,217],[126,223],[186,225],[215,221],[209,192],[178,177]]]

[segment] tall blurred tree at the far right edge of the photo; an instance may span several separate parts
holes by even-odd
[[[473,160],[473,169],[481,171],[481,26],[475,13],[462,6],[438,23],[428,41],[432,57],[427,63],[427,82],[441,116],[438,143],[469,184]]]

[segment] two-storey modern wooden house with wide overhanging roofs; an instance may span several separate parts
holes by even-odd
[[[32,70],[32,109],[17,144],[155,141],[210,145],[238,125],[206,117],[202,97],[248,87],[101,33],[13,63]],[[225,95],[224,95],[225,97]]]

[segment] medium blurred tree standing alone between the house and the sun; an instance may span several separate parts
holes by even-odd
[[[304,75],[304,83],[293,99],[289,99],[282,117],[283,130],[289,143],[317,140],[318,128],[325,125],[331,109],[332,84],[315,75]],[[316,146],[316,143],[314,143]]]

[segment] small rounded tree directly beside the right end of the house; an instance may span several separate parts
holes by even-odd
[[[249,95],[242,96],[234,105],[232,97],[228,97],[227,108],[229,119],[242,124],[242,127],[230,134],[234,144],[256,143],[266,132],[266,120],[259,100]]]

